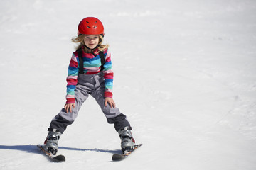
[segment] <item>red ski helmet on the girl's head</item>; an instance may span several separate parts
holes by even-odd
[[[102,22],[95,17],[83,18],[78,25],[78,35],[104,35],[104,27]]]

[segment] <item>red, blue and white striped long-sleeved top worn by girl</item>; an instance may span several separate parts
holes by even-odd
[[[98,49],[95,50],[95,54],[99,52]],[[84,74],[97,74],[100,72],[100,53],[96,56],[92,53],[82,52],[83,59],[83,71]],[[112,71],[112,62],[110,57],[110,52],[108,49],[104,51],[105,64],[103,69],[104,79],[105,79],[105,97],[112,98],[112,89],[113,89],[113,71]],[[79,57],[78,52],[73,52],[73,55],[70,60],[68,67],[68,77],[67,77],[67,102],[66,103],[75,103],[75,86],[78,84],[78,73],[79,73]]]

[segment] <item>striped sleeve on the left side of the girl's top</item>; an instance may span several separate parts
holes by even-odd
[[[67,96],[66,103],[75,103],[75,86],[78,84],[78,72],[79,72],[79,61],[78,55],[75,55],[76,52],[73,52],[73,55],[68,66],[68,77],[67,77]]]

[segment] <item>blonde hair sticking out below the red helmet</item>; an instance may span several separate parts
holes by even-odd
[[[99,46],[97,47],[100,51],[104,51],[106,48],[109,47],[108,44],[106,45],[102,45],[102,42],[103,42],[103,37],[102,35],[98,35],[99,36]],[[75,42],[75,43],[80,43],[77,47],[75,47],[75,50],[78,50],[80,47],[82,46],[85,46],[85,42],[84,42],[84,39],[85,39],[85,34],[80,34],[78,35],[77,37],[75,38],[72,38],[72,42]],[[91,52],[91,50],[85,48],[85,52]]]

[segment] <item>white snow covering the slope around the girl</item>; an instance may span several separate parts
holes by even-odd
[[[0,169],[256,169],[253,0],[1,0]],[[111,162],[119,137],[90,97],[59,141],[36,145],[65,103],[80,20],[100,18],[114,101],[143,147]]]

